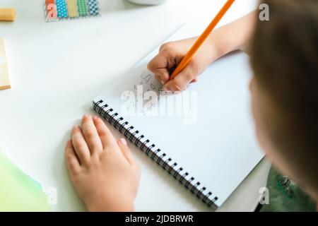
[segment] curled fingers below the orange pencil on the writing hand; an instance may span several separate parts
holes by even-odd
[[[183,91],[186,90],[188,85],[194,81],[197,73],[194,72],[194,66],[190,64],[175,76],[172,80],[165,83],[163,90],[165,91]]]

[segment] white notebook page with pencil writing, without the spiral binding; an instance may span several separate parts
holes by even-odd
[[[198,34],[194,25],[184,25],[169,40]],[[191,103],[197,100],[196,111],[160,115],[158,109],[163,109],[160,107],[161,98],[157,108],[143,108],[138,116],[126,114],[123,105],[127,100],[122,100],[124,91],[136,93],[134,88],[142,83],[143,90],[157,90],[158,93],[161,85],[146,69],[157,53],[158,49],[155,49],[119,78],[118,83],[105,88],[95,102],[103,100],[110,105],[114,112],[124,117],[124,121],[138,129],[139,134],[177,162],[184,172],[189,172],[191,177],[218,196],[216,205],[220,206],[264,156],[257,144],[249,107],[251,71],[248,57],[242,52],[223,57],[211,64],[197,83],[189,86],[187,92],[193,97]],[[177,100],[178,97],[170,95],[165,100],[172,98]],[[188,108],[185,104],[178,107]],[[150,116],[154,112],[159,112],[159,116]]]

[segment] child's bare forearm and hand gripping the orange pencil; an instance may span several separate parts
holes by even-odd
[[[255,13],[253,11],[214,30],[188,66],[173,80],[169,81],[170,73],[192,47],[197,37],[163,44],[159,54],[148,64],[148,69],[155,73],[155,77],[163,83],[163,90],[185,90],[189,83],[196,82],[196,77],[213,61],[247,46],[252,37]]]

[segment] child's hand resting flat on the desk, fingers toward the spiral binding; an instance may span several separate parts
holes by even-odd
[[[78,195],[93,211],[131,211],[139,184],[139,166],[122,138],[102,119],[85,115],[66,143],[66,162]]]

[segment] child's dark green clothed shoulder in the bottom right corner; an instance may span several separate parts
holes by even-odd
[[[271,167],[267,179],[269,204],[264,204],[262,212],[271,211],[316,211],[316,203],[291,179],[281,175]]]

